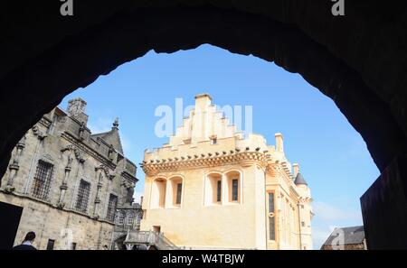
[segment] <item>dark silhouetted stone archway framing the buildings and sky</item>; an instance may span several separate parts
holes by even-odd
[[[7,2],[0,11],[7,37],[0,43],[5,126],[0,172],[24,132],[71,91],[147,51],[174,52],[203,43],[298,72],[335,101],[364,137],[380,171],[401,172],[400,164],[393,167],[392,162],[407,151],[403,6],[352,1],[344,17],[334,17],[327,0],[148,3],[77,1],[74,16],[62,17],[58,1],[27,3],[24,9]],[[397,185],[404,189],[402,179]],[[375,218],[375,207],[369,208],[364,208],[371,211],[364,213],[365,223]],[[406,215],[394,213],[407,221]],[[369,227],[366,232],[369,240]]]

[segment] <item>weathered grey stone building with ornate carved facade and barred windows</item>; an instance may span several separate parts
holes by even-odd
[[[123,153],[118,120],[91,134],[86,102],[55,107],[14,148],[0,201],[24,208],[14,245],[29,231],[46,249],[108,249],[117,208],[131,207],[136,165]]]

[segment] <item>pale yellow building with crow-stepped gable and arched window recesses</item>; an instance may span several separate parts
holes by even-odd
[[[169,143],[145,152],[140,229],[192,249],[312,249],[310,190],[282,135],[238,133],[211,101],[195,97]]]

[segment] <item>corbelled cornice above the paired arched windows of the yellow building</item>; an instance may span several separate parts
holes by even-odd
[[[206,154],[183,156],[181,158],[161,159],[140,163],[141,168],[148,176],[162,171],[177,171],[184,169],[197,169],[228,164],[239,164],[242,167],[257,165],[262,169],[267,166],[267,157],[262,152],[209,152]]]

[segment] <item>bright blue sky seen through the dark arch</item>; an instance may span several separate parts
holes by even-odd
[[[194,105],[194,96],[203,92],[219,106],[252,106],[253,132],[268,143],[275,143],[275,133],[284,135],[286,155],[299,163],[314,199],[314,248],[334,226],[362,225],[359,198],[379,176],[364,140],[330,98],[274,63],[210,45],[172,54],[150,51],[76,90],[61,106],[84,98],[93,133],[109,130],[118,116],[124,151],[138,164],[145,149],[167,143],[155,134],[161,118],[156,107],[175,109],[176,97],[184,106]],[[137,178],[138,197],[144,188],[141,169]]]

